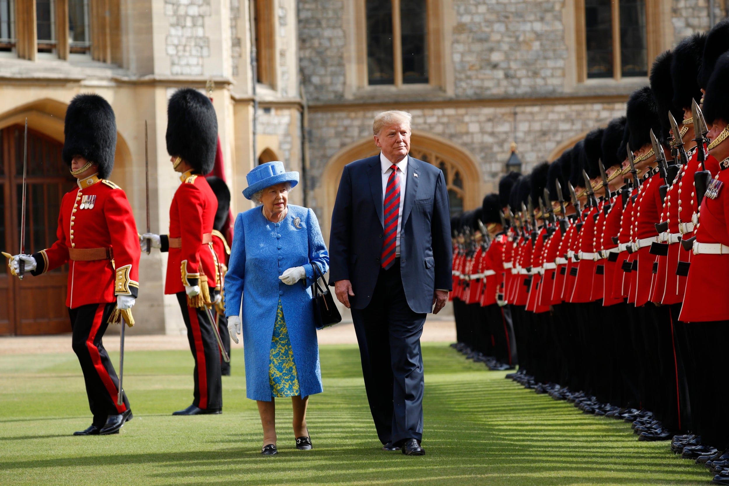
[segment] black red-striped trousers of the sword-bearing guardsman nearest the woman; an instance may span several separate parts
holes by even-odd
[[[219,409],[223,406],[222,378],[220,377],[220,349],[215,339],[213,324],[206,310],[187,307],[187,294],[176,294],[182,310],[187,340],[195,359],[195,391],[192,404],[201,409]]]

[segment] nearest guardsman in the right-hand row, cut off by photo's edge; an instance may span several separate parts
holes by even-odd
[[[701,201],[680,316],[681,321],[691,323],[695,328],[690,334],[695,358],[701,359],[702,369],[712,370],[725,366],[723,349],[729,339],[729,300],[726,299],[729,289],[728,83],[729,53],[717,60],[703,101],[706,123],[712,125],[709,153],[719,161],[720,171],[711,180]],[[698,420],[701,442],[724,450],[729,447],[729,415],[725,409],[729,391],[727,387],[717,386],[714,378],[714,373],[710,372],[687,377],[690,393],[693,392],[691,412]],[[729,482],[728,478],[722,481],[722,484]]]

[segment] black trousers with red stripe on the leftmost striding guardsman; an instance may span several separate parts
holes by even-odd
[[[109,324],[109,315],[115,302],[109,304],[89,304],[69,309],[71,318],[71,346],[79,358],[84,373],[86,395],[93,414],[93,425],[104,426],[109,415],[117,415],[129,408],[129,400],[124,393],[124,402],[117,406],[119,379],[114,371],[109,353],[104,349],[101,338]]]

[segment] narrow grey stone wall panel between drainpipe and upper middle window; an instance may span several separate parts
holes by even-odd
[[[344,97],[346,0],[299,0],[299,63],[306,97],[316,101]]]

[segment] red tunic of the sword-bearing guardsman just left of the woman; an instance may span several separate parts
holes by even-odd
[[[190,172],[184,173],[170,206],[170,233],[162,235],[162,251],[169,251],[165,294],[184,292],[185,286],[199,283],[200,274],[208,286],[217,287],[217,255],[212,245],[213,223],[218,200],[208,181]],[[203,243],[210,235],[210,243]],[[171,248],[169,238],[181,238],[180,248]]]

